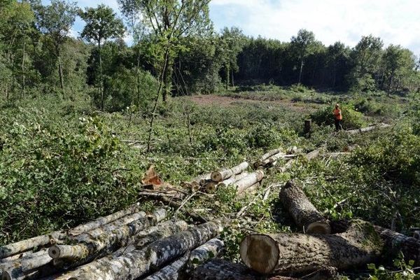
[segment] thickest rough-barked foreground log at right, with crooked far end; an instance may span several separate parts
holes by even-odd
[[[246,266],[262,274],[300,274],[323,267],[365,266],[377,260],[383,249],[373,226],[358,220],[336,235],[248,235],[240,254]]]

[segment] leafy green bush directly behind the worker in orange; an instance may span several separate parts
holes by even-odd
[[[311,114],[311,119],[318,125],[333,125],[334,115],[332,114],[332,109],[333,106],[323,107]],[[342,105],[340,106],[340,109],[342,110],[342,126],[344,130],[356,129],[366,125],[363,114],[354,110],[353,106]]]

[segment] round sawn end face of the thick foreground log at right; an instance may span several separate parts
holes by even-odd
[[[268,235],[248,235],[241,241],[239,253],[247,267],[261,274],[274,271],[280,254],[276,241]]]

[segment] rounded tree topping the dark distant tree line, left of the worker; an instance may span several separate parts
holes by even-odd
[[[316,48],[315,35],[312,31],[307,31],[306,29],[300,29],[297,32],[297,36],[291,38],[290,47],[295,52],[297,59],[300,61],[300,71],[299,71],[299,80],[298,84],[302,81],[302,71],[304,66],[304,61],[313,54]]]

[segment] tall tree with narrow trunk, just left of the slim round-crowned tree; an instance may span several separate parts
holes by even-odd
[[[62,0],[52,0],[49,6],[35,6],[36,25],[45,34],[50,43],[50,50],[58,61],[59,84],[64,92],[64,76],[61,59],[62,46],[66,42],[70,29],[76,20],[76,3],[66,3]]]

